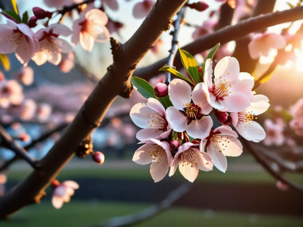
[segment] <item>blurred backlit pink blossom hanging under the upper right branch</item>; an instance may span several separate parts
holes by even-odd
[[[282,49],[286,46],[286,40],[282,35],[276,33],[258,33],[248,44],[248,53],[252,59],[258,59],[261,55],[267,57],[268,51]]]

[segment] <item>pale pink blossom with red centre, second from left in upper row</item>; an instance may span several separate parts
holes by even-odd
[[[62,24],[52,24],[47,28],[41,28],[35,33],[35,38],[40,43],[39,50],[32,57],[37,65],[42,65],[49,61],[58,65],[62,59],[62,53],[72,51],[72,46],[65,40],[58,38],[59,35],[68,36],[71,30]]]

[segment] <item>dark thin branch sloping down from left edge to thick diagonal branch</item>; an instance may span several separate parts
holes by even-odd
[[[16,155],[20,156],[27,163],[29,163],[34,169],[36,169],[36,162],[32,157],[27,153],[27,151],[15,142],[12,137],[5,131],[5,129],[0,125],[0,137],[2,138],[1,146],[12,150]]]

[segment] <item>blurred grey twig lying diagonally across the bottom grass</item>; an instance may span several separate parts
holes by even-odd
[[[145,221],[159,214],[161,211],[170,208],[173,202],[176,202],[179,198],[190,191],[190,186],[191,185],[189,183],[182,184],[177,189],[170,192],[162,202],[157,205],[150,206],[137,214],[115,217],[105,221],[101,225],[91,225],[90,227],[119,227]]]

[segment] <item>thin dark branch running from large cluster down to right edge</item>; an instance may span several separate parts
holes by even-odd
[[[276,180],[279,180],[282,183],[287,184],[290,188],[303,192],[303,187],[301,185],[293,183],[293,182],[285,179],[283,176],[281,176],[279,173],[277,173],[274,169],[272,169],[271,166],[269,166],[268,163],[266,163],[266,161],[260,156],[260,154],[252,148],[251,142],[248,142],[245,139],[243,139],[241,142],[247,148],[248,152],[251,153],[251,155],[255,158],[255,160],[258,163],[260,163],[264,167],[264,169],[269,174],[271,174],[271,176],[273,176]]]

